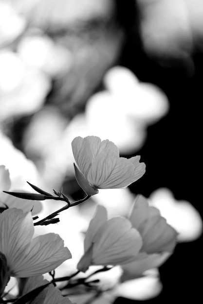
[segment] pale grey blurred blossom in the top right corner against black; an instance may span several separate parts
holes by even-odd
[[[203,1],[137,0],[137,6],[145,51],[162,64],[178,60],[191,74],[191,54],[202,49]]]

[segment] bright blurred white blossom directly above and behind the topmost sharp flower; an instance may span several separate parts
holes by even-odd
[[[157,86],[139,82],[127,68],[111,68],[104,84],[107,89],[89,99],[85,115],[71,121],[67,135],[109,138],[121,153],[130,154],[144,144],[148,125],[166,115],[168,100]]]

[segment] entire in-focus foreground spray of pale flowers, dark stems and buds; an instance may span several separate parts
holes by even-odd
[[[18,299],[22,303],[33,297],[36,297],[35,303],[71,303],[67,297],[62,298],[61,292],[55,288],[56,282],[67,281],[61,290],[79,284],[94,290],[91,289],[91,283],[100,282],[100,279],[90,281],[95,273],[120,267],[118,281],[124,282],[139,278],[146,270],[160,266],[173,253],[177,232],[166,223],[157,208],[149,206],[142,195],[137,195],[129,217],[126,218],[116,216],[108,219],[107,209],[97,205],[85,235],[84,254],[79,258],[77,271],[69,276],[55,278],[55,271],[52,270],[70,259],[72,254],[64,247],[62,238],[55,233],[34,237],[34,226],[59,222],[59,218],[55,217],[60,212],[84,203],[97,194],[98,189],[127,187],[145,173],[145,164],[139,162],[140,156],[129,159],[120,157],[118,148],[109,140],[101,141],[96,136],[76,137],[72,148],[79,168],[74,165],[75,178],[87,194],[85,198],[72,203],[61,190],[54,190],[54,196],[30,183],[28,184],[37,193],[8,192],[11,186],[9,172],[0,166],[0,180],[4,189],[0,214],[0,295],[5,299],[4,289],[10,277],[16,277]],[[12,204],[6,198],[8,193],[14,198]],[[22,199],[24,204],[19,207]],[[66,205],[36,222],[38,216],[32,218],[29,202],[47,199],[61,200]],[[30,211],[24,208],[26,204]],[[86,273],[95,266],[99,270],[77,277],[78,273]],[[41,276],[47,272],[52,276],[51,282],[43,280]],[[106,285],[103,285],[103,289],[104,286]],[[99,286],[96,288],[100,290]],[[113,288],[111,284],[111,289]]]

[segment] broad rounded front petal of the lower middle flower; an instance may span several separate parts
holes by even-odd
[[[101,227],[95,238],[92,264],[121,265],[132,261],[142,247],[139,232],[132,228],[129,220],[112,218]]]

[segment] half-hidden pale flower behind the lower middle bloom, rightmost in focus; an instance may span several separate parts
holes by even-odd
[[[138,195],[129,220],[143,241],[143,246],[134,261],[123,265],[122,280],[134,279],[148,269],[159,267],[173,253],[177,243],[177,232],[161,217],[157,208],[151,207],[147,199]]]

